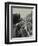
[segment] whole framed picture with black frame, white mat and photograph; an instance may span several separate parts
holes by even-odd
[[[6,3],[6,42],[36,42],[36,4]]]

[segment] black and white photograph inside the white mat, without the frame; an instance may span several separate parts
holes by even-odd
[[[32,9],[13,8],[11,12],[11,39],[32,36]]]

